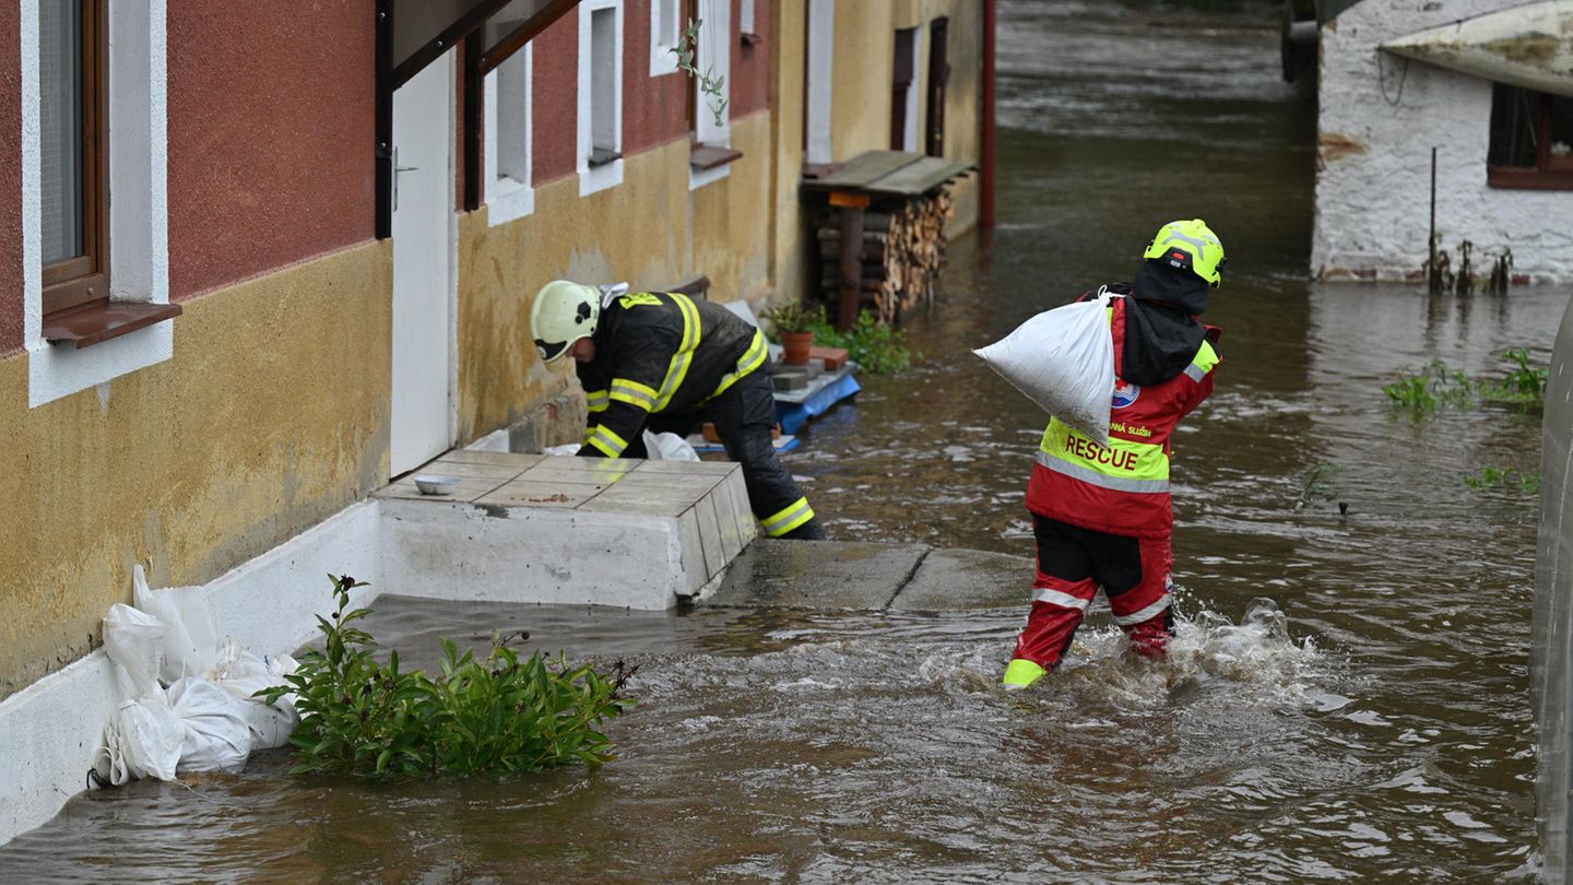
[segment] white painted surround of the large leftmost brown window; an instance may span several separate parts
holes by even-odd
[[[28,408],[175,356],[175,323],[74,350],[44,331],[42,145],[39,142],[38,0],[20,0],[22,58],[22,329]],[[168,44],[165,0],[115,0],[109,19],[110,301],[170,302]]]

